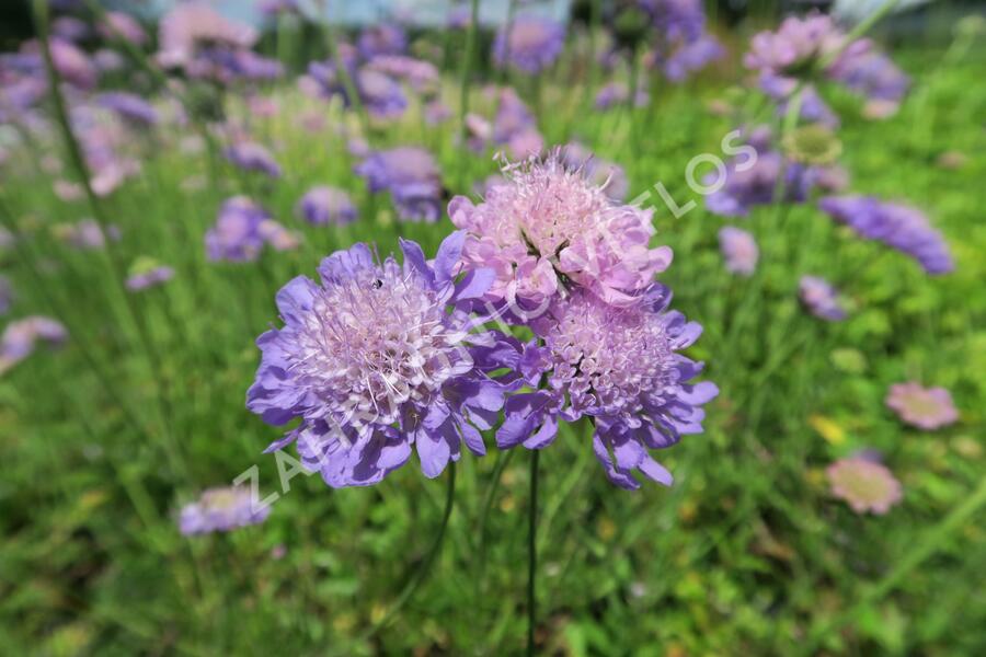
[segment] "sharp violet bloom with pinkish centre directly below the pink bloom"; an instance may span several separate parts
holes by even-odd
[[[647,450],[700,433],[701,406],[719,391],[713,383],[692,382],[702,365],[678,351],[702,330],[667,311],[669,301],[670,291],[658,284],[626,308],[584,288],[555,297],[531,322],[543,346],[525,345],[519,364],[531,388],[542,376],[547,387],[507,400],[497,446],[542,449],[554,440],[559,419],[588,416],[595,426],[593,451],[614,484],[640,487],[633,476],[639,471],[670,485],[670,473]]]

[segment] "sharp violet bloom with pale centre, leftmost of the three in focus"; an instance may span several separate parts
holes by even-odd
[[[456,283],[463,240],[446,238],[432,265],[414,242],[401,240],[403,265],[356,244],[322,261],[320,283],[299,276],[280,289],[284,327],[257,338],[246,406],[268,424],[301,423],[267,452],[296,442],[333,487],[380,482],[412,446],[428,477],[459,460],[463,441],[485,453],[480,430],[497,422],[508,390],[491,372],[516,349],[477,331],[465,310],[492,277]]]

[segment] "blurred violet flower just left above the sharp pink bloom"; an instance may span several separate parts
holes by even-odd
[[[390,192],[401,219],[435,222],[442,216],[442,178],[425,149],[404,146],[372,152],[355,171],[371,193]]]

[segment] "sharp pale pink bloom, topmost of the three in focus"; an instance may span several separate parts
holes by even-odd
[[[452,223],[469,231],[466,267],[496,273],[484,300],[538,306],[571,280],[609,303],[631,303],[670,264],[670,249],[649,247],[653,210],[614,201],[559,151],[503,173],[507,182],[483,203],[457,196],[448,206]]]

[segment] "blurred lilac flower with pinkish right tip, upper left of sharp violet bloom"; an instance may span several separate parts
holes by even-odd
[[[245,196],[233,196],[223,203],[216,224],[205,235],[210,261],[253,262],[264,244],[285,251],[297,243],[294,234]]]

